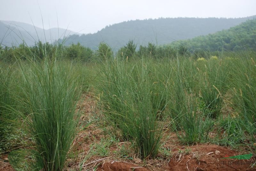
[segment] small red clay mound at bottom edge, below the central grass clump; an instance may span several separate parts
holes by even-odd
[[[149,171],[146,168],[136,166],[126,162],[107,162],[100,164],[96,171]]]

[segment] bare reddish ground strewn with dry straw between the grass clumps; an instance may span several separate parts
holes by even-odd
[[[88,93],[82,97],[77,107],[81,112],[81,127],[76,139],[73,142],[70,154],[67,159],[67,171],[97,170],[97,171],[147,171],[147,170],[173,170],[173,171],[232,171],[232,170],[256,170],[250,168],[255,162],[255,157],[250,160],[222,159],[223,157],[246,154],[248,152],[234,151],[227,147],[214,144],[194,144],[184,146],[179,144],[175,133],[164,133],[164,147],[170,150],[169,155],[159,154],[156,159],[140,160],[133,152],[130,142],[112,142],[108,128],[102,129],[100,116],[96,109],[97,96]],[[88,124],[88,121],[92,123]],[[103,140],[108,140],[107,145]],[[110,142],[110,143],[109,143]],[[97,150],[100,149],[100,152]],[[105,151],[107,149],[107,152]],[[123,152],[123,151],[125,152]],[[220,154],[215,152],[219,151]],[[94,152],[94,153],[93,153]],[[125,154],[125,155],[124,155]],[[14,171],[8,161],[3,160],[7,155],[0,156],[0,171]],[[84,161],[84,162],[83,162]]]

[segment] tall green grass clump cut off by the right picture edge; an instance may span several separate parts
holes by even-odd
[[[241,117],[241,127],[245,130],[244,138],[249,147],[256,149],[256,63],[255,58],[235,61],[236,85],[234,86],[234,107]],[[246,140],[249,139],[249,142]]]

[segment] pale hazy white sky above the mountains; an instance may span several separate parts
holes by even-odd
[[[42,15],[41,15],[41,12]],[[256,15],[256,0],[0,0],[0,20],[94,33],[127,20]]]

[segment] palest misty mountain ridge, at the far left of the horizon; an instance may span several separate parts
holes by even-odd
[[[0,21],[0,43],[2,46],[17,46],[24,42],[32,46],[38,40],[53,43],[59,38],[74,35],[73,32],[64,28],[42,29],[31,24],[17,21]]]

